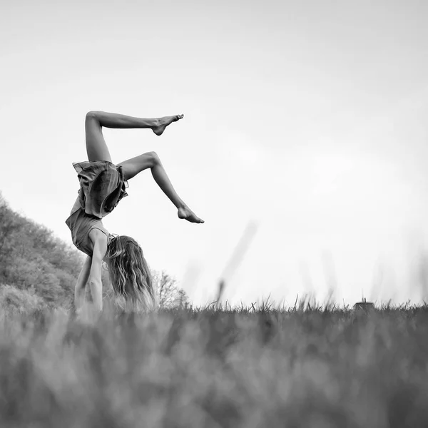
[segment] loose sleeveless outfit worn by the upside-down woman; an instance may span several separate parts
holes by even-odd
[[[93,243],[89,238],[92,229],[105,233],[110,242],[111,235],[104,228],[101,219],[128,195],[128,182],[123,179],[121,165],[108,161],[88,161],[73,163],[78,173],[80,207],[73,210],[66,220],[71,230],[71,239],[78,250],[92,256]]]

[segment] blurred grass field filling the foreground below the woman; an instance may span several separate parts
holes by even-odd
[[[0,427],[427,427],[428,309],[0,319]]]

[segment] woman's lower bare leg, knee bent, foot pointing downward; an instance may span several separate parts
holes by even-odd
[[[128,159],[119,163],[123,168],[123,175],[126,180],[135,177],[141,171],[151,168],[151,173],[158,186],[163,190],[163,193],[168,196],[170,201],[178,208],[178,217],[184,218],[191,223],[204,223],[195,213],[193,213],[188,205],[178,196],[173,188],[165,168],[161,163],[161,159],[155,152],[144,153],[143,155],[136,156],[136,158]]]

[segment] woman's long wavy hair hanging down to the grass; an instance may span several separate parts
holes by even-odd
[[[141,246],[130,236],[113,236],[107,247],[108,276],[131,310],[156,310],[153,279]]]

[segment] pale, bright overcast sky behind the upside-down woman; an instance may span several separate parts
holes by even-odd
[[[103,133],[113,163],[156,151],[205,223],[179,220],[148,170],[103,223],[196,305],[222,276],[231,305],[418,303],[427,19],[397,0],[2,4],[0,191],[71,244],[86,112],[184,113],[161,137]]]

